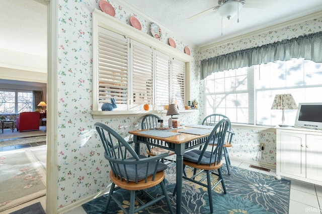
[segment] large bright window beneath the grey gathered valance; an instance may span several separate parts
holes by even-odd
[[[276,94],[292,94],[295,102],[322,102],[322,63],[303,59],[215,72],[205,79],[205,115],[224,114],[231,122],[277,125],[282,111],[272,110]],[[296,110],[285,110],[294,125]]]

